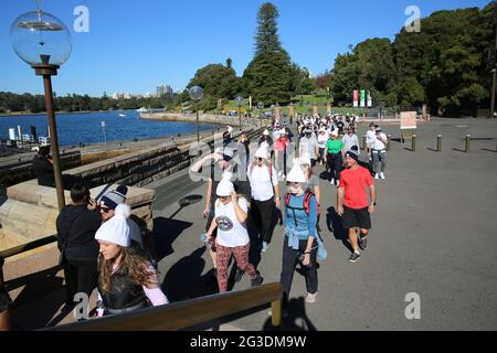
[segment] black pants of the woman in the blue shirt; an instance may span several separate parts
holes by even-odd
[[[313,247],[317,246],[317,242],[314,240]],[[297,265],[298,257],[306,250],[307,240],[298,242],[298,250],[288,247],[288,237],[285,236],[283,242],[283,263],[282,263],[282,276],[279,282],[283,285],[283,308],[288,306],[289,291],[292,289],[292,281],[294,280],[295,266]],[[316,267],[317,248],[310,252],[310,266],[303,266],[304,276],[306,278],[307,292],[315,293],[318,289],[318,277]]]

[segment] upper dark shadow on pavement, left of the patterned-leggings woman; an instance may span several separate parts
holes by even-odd
[[[168,255],[175,253],[172,243],[176,238],[192,226],[191,222],[177,221],[165,217],[157,217],[154,220],[154,235],[155,248],[157,254],[157,261],[160,261]]]

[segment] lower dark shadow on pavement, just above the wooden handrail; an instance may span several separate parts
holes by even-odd
[[[218,282],[212,270],[202,276],[205,247],[199,247],[181,258],[166,274],[161,288],[169,301],[181,301],[218,292]],[[209,264],[211,266],[211,264]]]

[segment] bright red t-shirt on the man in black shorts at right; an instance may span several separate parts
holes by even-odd
[[[340,172],[340,188],[345,189],[343,204],[349,208],[368,207],[367,186],[372,185],[373,180],[369,170],[363,167],[345,169]]]

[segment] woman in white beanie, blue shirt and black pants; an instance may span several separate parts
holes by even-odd
[[[284,315],[287,315],[292,281],[298,263],[302,265],[306,279],[306,302],[315,302],[318,291],[317,202],[316,196],[306,191],[306,183],[307,178],[299,161],[296,160],[287,176],[287,194],[285,196],[285,239],[279,279],[283,285]]]

